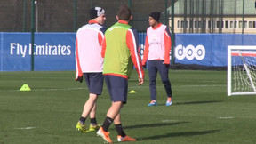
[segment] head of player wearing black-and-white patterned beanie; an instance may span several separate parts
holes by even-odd
[[[102,25],[106,20],[105,10],[100,7],[93,7],[90,9],[90,18],[96,20]]]

